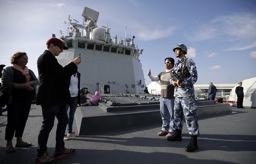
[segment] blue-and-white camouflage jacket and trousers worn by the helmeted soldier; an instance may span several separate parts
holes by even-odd
[[[184,119],[189,129],[189,134],[199,136],[197,105],[194,95],[193,84],[197,81],[198,74],[196,71],[195,63],[192,59],[185,56],[177,61],[173,70],[178,74],[178,70],[181,72],[181,68],[186,59],[186,71],[183,74],[183,85],[176,86],[174,89],[175,102],[174,102],[174,128],[182,130]],[[174,81],[170,78],[170,83]],[[180,82],[181,83],[181,82]]]

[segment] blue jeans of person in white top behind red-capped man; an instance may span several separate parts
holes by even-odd
[[[73,126],[73,121],[74,121],[74,115],[75,115],[75,112],[76,112],[76,108],[77,108],[77,103],[78,103],[78,96],[76,97],[71,97],[71,102],[70,104],[66,105],[66,112],[67,112],[67,109],[69,107],[69,112],[68,112],[68,125],[67,125],[67,132],[68,133],[72,133],[73,129],[72,129],[72,126]]]

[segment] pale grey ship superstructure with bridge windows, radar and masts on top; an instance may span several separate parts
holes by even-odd
[[[60,31],[68,50],[57,57],[65,66],[72,59],[81,56],[78,66],[81,73],[81,87],[90,93],[144,93],[146,88],[139,56],[143,49],[134,44],[135,36],[120,38],[110,36],[110,28],[96,25],[99,12],[84,8],[83,24],[68,16],[68,30]],[[54,37],[54,36],[53,36]]]

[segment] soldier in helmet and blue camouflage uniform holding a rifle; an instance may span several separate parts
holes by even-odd
[[[173,71],[180,77],[175,81],[172,77],[170,83],[175,86],[174,95],[174,127],[175,134],[168,138],[168,141],[181,141],[181,131],[184,120],[189,129],[191,140],[185,148],[187,152],[198,149],[197,137],[200,135],[197,116],[197,105],[194,94],[193,84],[198,79],[195,63],[192,59],[186,58],[187,47],[184,44],[177,44],[173,51],[179,58],[173,67]]]

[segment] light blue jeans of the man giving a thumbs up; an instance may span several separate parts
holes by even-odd
[[[174,132],[174,98],[160,98],[160,113],[162,116],[162,131]]]

